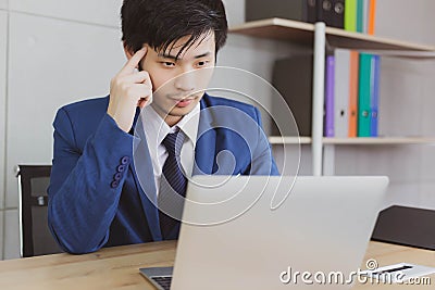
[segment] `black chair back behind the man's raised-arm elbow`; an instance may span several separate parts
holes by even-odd
[[[60,253],[47,224],[50,165],[18,165],[21,256]]]

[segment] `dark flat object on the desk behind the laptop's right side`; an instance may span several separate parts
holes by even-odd
[[[435,250],[435,211],[390,206],[380,213],[372,240]]]

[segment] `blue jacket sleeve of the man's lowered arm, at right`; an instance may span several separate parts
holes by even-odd
[[[268,136],[263,131],[260,111],[254,108],[256,122],[258,123],[258,143],[252,154],[251,175],[279,175]]]

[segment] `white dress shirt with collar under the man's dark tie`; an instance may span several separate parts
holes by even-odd
[[[181,162],[187,177],[191,176],[198,135],[199,113],[200,104],[198,103],[195,109],[185,115],[175,126],[170,127],[151,105],[147,105],[142,109],[140,119],[144,124],[145,136],[147,137],[148,149],[152,161],[157,194],[159,194],[163,164],[167,157],[166,148],[162,144],[167,134],[176,133],[177,130],[182,130],[185,134],[186,138],[182,147]]]

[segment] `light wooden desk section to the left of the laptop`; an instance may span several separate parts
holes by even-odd
[[[2,261],[0,289],[154,289],[139,274],[139,268],[171,266],[174,256],[175,242],[156,242],[108,248],[85,255],[53,254]]]

